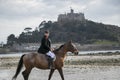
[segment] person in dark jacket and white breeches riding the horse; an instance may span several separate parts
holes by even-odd
[[[44,36],[41,40],[41,46],[40,48],[38,49],[38,53],[42,53],[42,54],[45,54],[47,55],[49,58],[49,68],[50,69],[54,69],[54,61],[55,61],[55,54],[52,52],[52,48],[51,48],[51,40],[49,38],[49,31],[46,30],[44,32]]]

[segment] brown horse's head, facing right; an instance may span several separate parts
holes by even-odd
[[[78,55],[78,49],[76,46],[72,43],[72,41],[69,41],[66,43],[67,50],[74,53],[75,55]]]

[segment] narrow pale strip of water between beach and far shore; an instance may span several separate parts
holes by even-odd
[[[27,54],[27,53],[32,53],[35,52],[37,53],[37,51],[19,51],[19,52],[8,52],[8,53],[1,53],[0,57],[4,57],[4,56],[20,56],[22,54]],[[67,53],[68,55],[73,55],[71,52]],[[78,55],[119,55],[120,54],[120,50],[96,50],[96,51],[79,51]]]

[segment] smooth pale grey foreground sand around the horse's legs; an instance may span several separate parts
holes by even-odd
[[[23,71],[23,69],[22,69]],[[69,65],[63,68],[65,80],[120,80],[120,66],[76,66]],[[15,68],[0,69],[0,80],[11,80]],[[29,80],[47,80],[49,70],[34,68]],[[23,80],[21,73],[17,80]],[[51,80],[61,80],[59,73],[55,71]]]

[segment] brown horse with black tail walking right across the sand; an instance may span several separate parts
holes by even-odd
[[[64,80],[62,67],[64,64],[64,59],[66,57],[66,53],[68,51],[74,53],[75,55],[78,54],[77,48],[71,41],[65,43],[64,45],[60,46],[58,49],[53,51],[56,55],[56,60],[54,62],[55,69],[50,70],[48,80],[51,79],[52,74],[56,69],[60,73],[62,80]],[[25,65],[25,70],[22,72],[24,80],[28,80],[29,74],[32,68],[34,67],[39,69],[48,69],[48,60],[44,54],[39,54],[39,53],[24,54],[20,58],[20,61],[16,70],[16,74],[14,75],[12,80],[16,80],[16,77],[20,73],[23,64]]]

